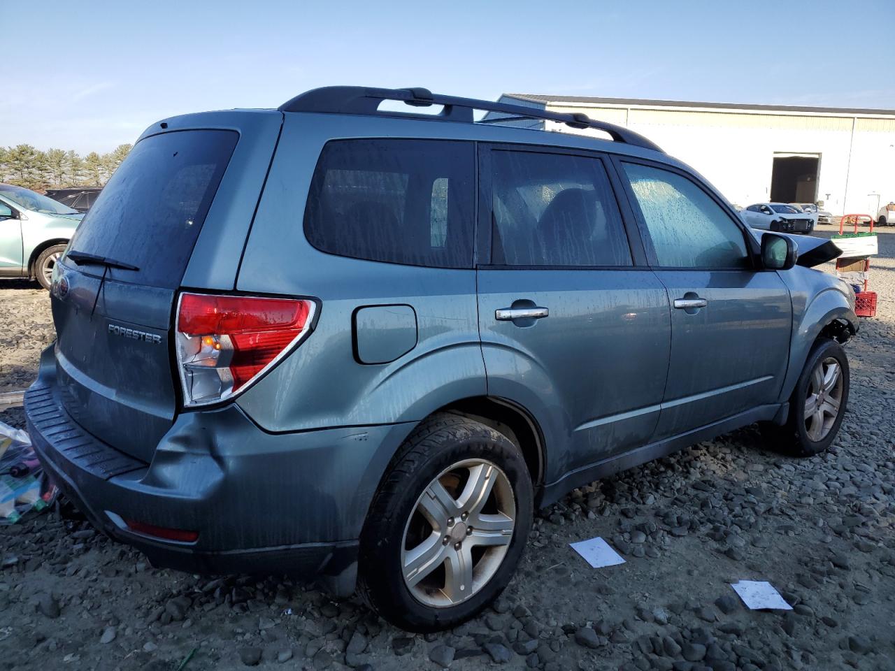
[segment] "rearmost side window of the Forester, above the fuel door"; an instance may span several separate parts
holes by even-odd
[[[304,233],[330,254],[472,268],[472,142],[333,140],[311,181]]]

